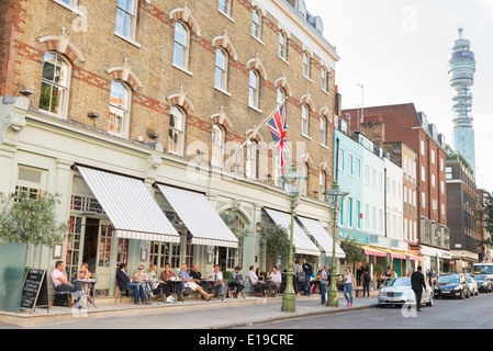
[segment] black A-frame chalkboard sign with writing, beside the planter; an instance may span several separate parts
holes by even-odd
[[[29,269],[22,287],[21,308],[34,310],[46,307],[49,312],[46,270]]]

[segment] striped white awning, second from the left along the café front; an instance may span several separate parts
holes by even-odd
[[[158,188],[192,234],[191,244],[238,247],[238,239],[221,219],[205,195],[161,184],[158,184]]]

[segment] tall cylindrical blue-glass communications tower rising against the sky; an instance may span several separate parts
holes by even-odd
[[[453,146],[466,158],[472,170],[475,171],[475,143],[472,126],[472,92],[474,83],[475,59],[474,53],[469,48],[471,43],[462,37],[459,29],[459,38],[453,42],[452,54],[448,61],[450,86],[456,90],[453,97]]]

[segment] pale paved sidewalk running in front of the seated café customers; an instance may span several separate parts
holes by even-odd
[[[247,325],[262,324],[291,318],[302,318],[324,314],[336,314],[372,308],[377,305],[378,292],[370,297],[354,297],[352,307],[346,306],[346,299],[339,294],[339,307],[327,307],[321,304],[321,296],[296,297],[296,312],[281,312],[282,296],[262,298],[246,296],[246,299],[226,298],[224,301],[195,301],[184,303],[148,305],[131,305],[127,301],[114,303],[114,297],[96,301],[98,308],[89,306],[88,309],[72,312],[68,307],[36,308],[34,313],[1,313],[0,327],[12,328],[148,328],[152,325],[157,329],[220,329],[235,328]],[[128,322],[132,317],[138,317],[147,322],[137,325]],[[125,320],[126,322],[119,322]],[[172,321],[172,322],[170,322]]]

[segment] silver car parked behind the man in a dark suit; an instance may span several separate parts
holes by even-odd
[[[433,287],[426,282],[426,290],[423,290],[422,305],[433,306]],[[411,287],[411,278],[393,278],[379,293],[379,306],[416,305],[416,295]]]

